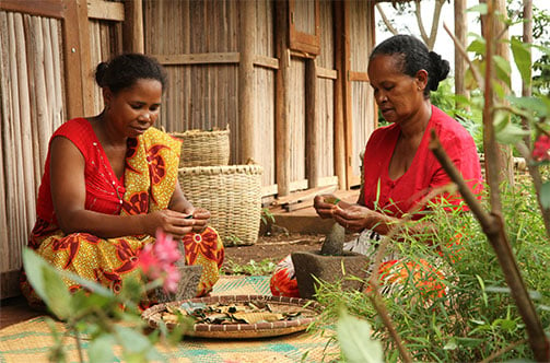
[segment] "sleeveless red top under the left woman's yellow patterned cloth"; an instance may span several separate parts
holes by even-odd
[[[61,125],[51,136],[69,139],[84,156],[84,180],[86,186],[85,209],[106,214],[119,214],[125,194],[124,177],[118,179],[95,136],[92,125],[85,118],[74,118]],[[44,176],[38,190],[36,213],[50,223],[56,223],[50,191],[50,150],[46,156]]]

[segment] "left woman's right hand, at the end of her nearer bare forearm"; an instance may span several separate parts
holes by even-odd
[[[182,239],[192,231],[195,220],[189,214],[176,212],[169,209],[154,211],[145,215],[145,233],[154,236],[157,229],[169,233],[175,239]]]

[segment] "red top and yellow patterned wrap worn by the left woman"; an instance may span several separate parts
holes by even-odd
[[[77,118],[63,124],[51,137],[72,141],[85,160],[84,179],[87,210],[115,214],[144,214],[168,207],[177,183],[180,141],[165,132],[150,128],[138,138],[128,139],[126,168],[118,179],[91,124]],[[59,269],[96,281],[115,293],[120,291],[126,277],[138,273],[139,251],[150,235],[101,238],[89,233],[65,234],[57,224],[50,194],[50,155],[38,191],[37,221],[28,239],[33,248]],[[218,233],[207,227],[202,233],[189,233],[185,245],[186,264],[202,265],[202,276],[197,295],[212,290],[219,279],[224,249]],[[66,281],[70,290],[79,285]],[[23,294],[31,304],[39,297],[23,274]]]

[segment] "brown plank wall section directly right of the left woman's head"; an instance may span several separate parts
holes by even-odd
[[[166,131],[230,127],[230,163],[239,160],[238,3],[144,1],[145,52],[168,72],[160,124]]]

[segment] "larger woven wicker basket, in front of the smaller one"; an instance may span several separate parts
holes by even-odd
[[[225,246],[253,245],[261,219],[259,165],[180,167],[179,185],[195,207],[210,211]]]

